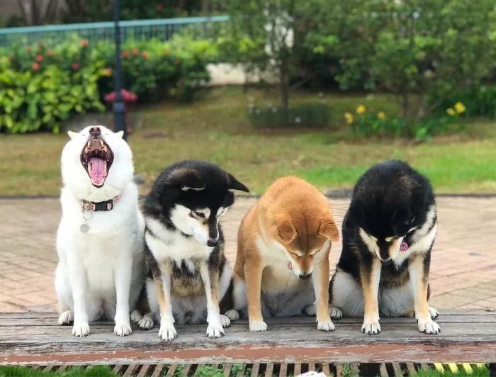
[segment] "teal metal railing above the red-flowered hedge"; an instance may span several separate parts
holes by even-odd
[[[177,30],[194,27],[203,35],[214,23],[229,20],[229,16],[161,18],[155,20],[120,21],[123,40],[150,39],[168,40]],[[91,41],[113,40],[113,22],[70,23],[67,25],[28,26],[24,28],[0,29],[0,46],[13,43],[33,43],[38,40],[64,40],[77,34]]]

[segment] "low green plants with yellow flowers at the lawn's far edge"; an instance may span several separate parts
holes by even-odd
[[[351,126],[354,133],[362,136],[415,137],[417,140],[427,140],[444,132],[465,111],[465,105],[456,102],[453,107],[446,108],[446,113],[442,116],[408,122],[405,118],[388,118],[384,111],[367,111],[365,106],[359,105],[355,113],[344,113],[344,122]]]

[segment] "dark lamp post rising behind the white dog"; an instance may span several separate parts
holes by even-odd
[[[114,40],[115,40],[115,69],[114,69],[114,86],[115,101],[113,102],[113,122],[115,132],[123,131],[123,139],[128,138],[128,128],[125,125],[125,105],[121,90],[122,67],[120,65],[120,28],[119,28],[120,0],[113,0],[113,22],[114,22]]]

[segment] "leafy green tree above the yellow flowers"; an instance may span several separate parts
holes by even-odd
[[[402,116],[428,116],[495,67],[493,0],[328,0],[306,38],[339,59],[337,80],[395,94]]]

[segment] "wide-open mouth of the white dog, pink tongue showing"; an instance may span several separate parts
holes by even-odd
[[[101,187],[105,183],[113,162],[113,152],[106,142],[93,137],[84,145],[81,152],[81,164],[88,173],[91,184]]]

